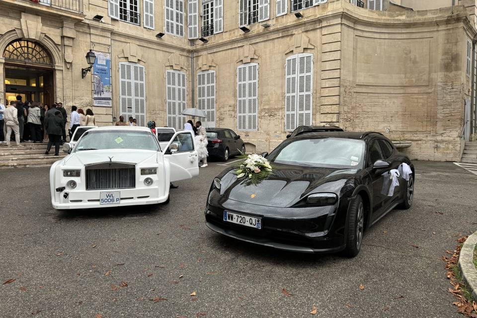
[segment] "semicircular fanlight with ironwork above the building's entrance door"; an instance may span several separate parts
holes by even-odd
[[[3,58],[10,61],[52,65],[48,51],[36,42],[15,40],[3,51]]]

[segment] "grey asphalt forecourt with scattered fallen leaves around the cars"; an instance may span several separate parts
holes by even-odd
[[[415,165],[414,205],[365,233],[353,259],[208,230],[218,162],[177,182],[168,205],[66,212],[51,207],[48,167],[2,169],[0,283],[15,281],[0,285],[0,317],[462,317],[441,257],[477,230],[477,175]]]

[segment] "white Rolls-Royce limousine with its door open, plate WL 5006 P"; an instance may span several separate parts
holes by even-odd
[[[92,128],[50,168],[55,209],[157,204],[169,200],[172,181],[199,175],[190,131],[173,135],[161,149],[146,127]]]

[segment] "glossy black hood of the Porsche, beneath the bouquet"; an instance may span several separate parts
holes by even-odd
[[[289,207],[311,193],[340,194],[358,169],[304,167],[274,164],[274,174],[258,185],[245,185],[230,169],[222,177],[221,195],[244,203]]]

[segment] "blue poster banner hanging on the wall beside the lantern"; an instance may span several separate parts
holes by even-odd
[[[111,57],[109,53],[94,52],[93,105],[111,107]]]

